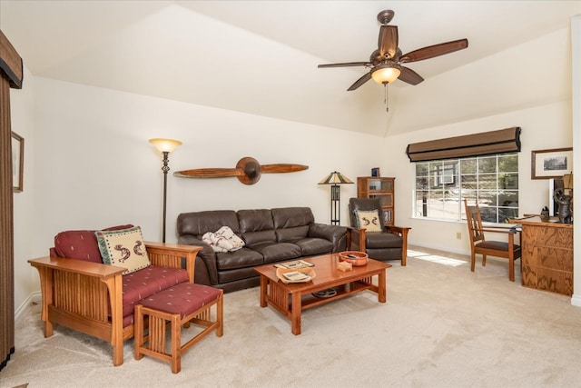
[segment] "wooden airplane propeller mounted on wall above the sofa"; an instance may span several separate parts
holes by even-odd
[[[294,173],[308,169],[303,164],[259,164],[250,156],[238,161],[235,168],[195,168],[173,173],[182,178],[224,178],[235,176],[242,184],[255,184],[261,179],[261,174]]]

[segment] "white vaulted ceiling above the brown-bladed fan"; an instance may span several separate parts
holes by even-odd
[[[404,52],[469,41],[466,50],[409,64],[425,81],[389,85],[389,113],[382,85],[347,92],[365,68],[317,68],[367,61],[384,9],[395,11],[390,24]],[[464,93],[471,72],[462,69],[579,14],[580,1],[0,0],[0,28],[35,76],[378,135],[421,129],[425,117],[501,113],[502,104],[486,103],[490,95],[461,112],[419,97],[434,87],[443,101]],[[552,59],[530,58],[534,66]]]

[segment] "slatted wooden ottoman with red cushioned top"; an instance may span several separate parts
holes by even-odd
[[[212,321],[211,308],[216,305],[216,319]],[[149,316],[149,330],[144,335],[143,321]],[[165,352],[166,323],[172,326],[171,353]],[[182,345],[182,324],[205,326],[187,343]],[[182,369],[182,353],[216,329],[216,335],[223,334],[223,291],[208,285],[182,283],[155,293],[135,306],[135,360],[143,354],[172,363],[172,373]]]

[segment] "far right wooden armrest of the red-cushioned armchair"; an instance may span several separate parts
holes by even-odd
[[[169,268],[182,268],[182,259],[185,259],[185,269],[188,280],[193,283],[195,258],[202,246],[185,244],[153,243],[146,241],[147,255],[153,265]]]

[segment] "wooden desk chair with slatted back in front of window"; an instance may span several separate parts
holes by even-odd
[[[468,221],[468,234],[470,235],[471,264],[470,271],[474,272],[476,254],[482,254],[482,266],[487,264],[487,255],[508,259],[508,278],[515,281],[515,260],[520,258],[520,245],[515,244],[516,228],[503,226],[482,227],[482,217],[478,204],[471,206],[464,200],[466,218]],[[507,234],[508,242],[488,241],[484,233]]]

